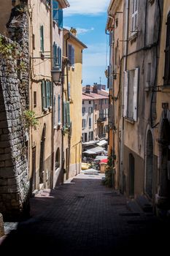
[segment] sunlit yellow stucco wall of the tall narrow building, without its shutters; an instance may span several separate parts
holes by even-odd
[[[65,38],[66,40],[66,38]],[[69,67],[70,83],[70,120],[72,121],[72,137],[70,141],[70,167],[69,176],[74,176],[81,170],[82,158],[82,45],[76,39],[70,37],[68,44],[74,47],[74,68]],[[63,45],[63,53],[66,56],[66,41]],[[65,72],[66,74],[66,72]],[[66,91],[66,79],[64,83]],[[64,97],[66,95],[64,94]],[[65,147],[68,138],[64,136]]]

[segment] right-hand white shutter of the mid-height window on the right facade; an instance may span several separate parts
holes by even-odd
[[[138,110],[138,84],[139,84],[139,67],[134,71],[134,102],[133,102],[133,117],[134,121],[137,121],[137,110]]]

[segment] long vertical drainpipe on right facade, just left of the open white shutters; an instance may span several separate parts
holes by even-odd
[[[124,48],[124,65],[123,74],[127,69],[127,54],[128,54],[128,12],[129,12],[129,1],[125,1],[125,48]],[[124,117],[123,117],[123,99],[124,99],[124,87],[122,94],[122,125],[121,125],[121,148],[120,148],[120,191],[123,193],[123,148],[124,148]]]

